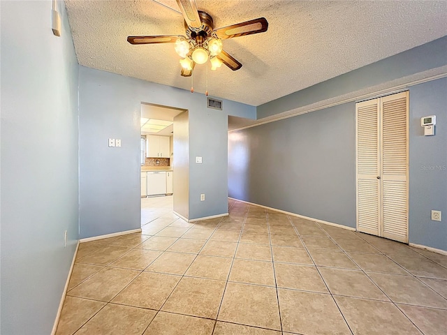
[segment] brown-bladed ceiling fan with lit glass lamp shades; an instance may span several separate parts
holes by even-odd
[[[214,29],[214,21],[210,14],[197,10],[194,0],[176,0],[184,17],[186,36],[159,35],[159,36],[129,36],[127,41],[133,45],[175,43],[175,52],[182,59],[181,75],[189,77],[196,64],[205,64],[210,59],[212,70],[225,64],[231,70],[242,67],[230,54],[222,50],[222,40],[267,31],[268,22],[264,17],[240,22],[219,29]]]

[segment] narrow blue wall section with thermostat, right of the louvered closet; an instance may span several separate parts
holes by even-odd
[[[436,115],[436,135],[423,136],[420,118]],[[447,78],[410,88],[409,234],[414,244],[447,250]],[[431,210],[442,221],[431,221]]]

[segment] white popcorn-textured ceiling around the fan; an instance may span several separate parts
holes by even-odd
[[[164,6],[160,3],[164,4]],[[182,89],[172,44],[131,45],[127,36],[184,35],[174,0],[65,0],[79,64]],[[208,71],[211,96],[261,105],[447,35],[447,1],[203,1],[214,26],[265,17],[263,34],[223,40],[243,66]],[[172,9],[171,9],[172,8]],[[206,66],[194,70],[205,92]]]

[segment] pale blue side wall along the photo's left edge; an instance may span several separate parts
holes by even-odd
[[[50,334],[78,240],[78,61],[58,6],[60,38],[51,1],[1,1],[5,335]]]

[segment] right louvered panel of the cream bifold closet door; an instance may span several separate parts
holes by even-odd
[[[408,242],[408,92],[381,98],[382,236]]]

